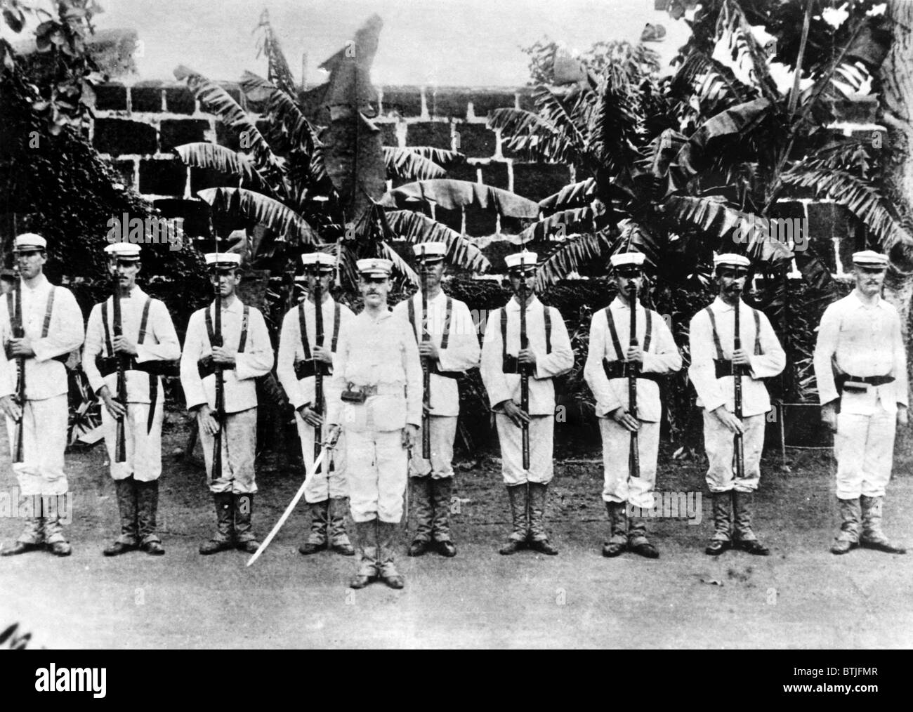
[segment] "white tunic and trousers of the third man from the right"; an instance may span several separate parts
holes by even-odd
[[[603,368],[603,360],[625,361],[624,351],[630,346],[631,308],[616,297],[606,309],[612,312],[618,348],[614,345],[605,309],[600,309],[593,314],[590,323],[590,347],[583,368],[583,377],[596,399],[596,416],[603,435],[603,501],[630,502],[634,507],[652,508],[662,416],[659,385],[655,381],[637,380],[637,419],[641,422],[637,433],[640,476],[632,477],[628,465],[631,432],[609,417],[618,407],[630,410],[628,380],[610,380]],[[640,304],[636,309],[637,343],[645,350],[640,371],[678,371],[682,367],[682,358],[666,322],[656,311],[650,310],[650,339],[647,342],[647,309]]]

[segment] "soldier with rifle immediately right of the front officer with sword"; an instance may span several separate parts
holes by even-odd
[[[412,484],[411,503],[417,519],[409,556],[421,556],[431,548],[446,557],[456,556],[450,536],[450,497],[453,491],[454,438],[459,415],[459,390],[456,379],[478,366],[479,348],[476,328],[469,309],[441,288],[444,277],[446,244],[428,242],[414,245],[419,263],[425,265],[427,316],[422,323],[422,292],[396,305],[394,313],[409,319],[418,342],[418,352],[430,371],[428,432],[431,457],[422,456],[422,437],[412,450],[409,462]],[[428,340],[423,340],[423,330]]]

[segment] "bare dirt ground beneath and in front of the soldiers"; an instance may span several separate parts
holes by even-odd
[[[184,444],[184,425],[166,433],[163,452]],[[910,441],[898,443],[885,508],[887,531],[913,541]],[[0,461],[8,462],[5,442]],[[660,455],[658,489],[705,491],[701,457],[670,464]],[[768,558],[703,553],[711,532],[709,497],[699,525],[649,520],[658,560],[600,555],[607,537],[599,497],[599,453],[573,452],[556,464],[548,524],[557,557],[498,555],[508,532],[499,464],[457,473],[455,559],[409,559],[400,541],[401,592],[383,583],[346,588],[351,558],[297,551],[304,508],[265,554],[197,553],[215,514],[203,470],[166,455],[159,522],[167,554],[101,556],[117,529],[104,448],[68,455],[75,492],[73,555],[45,552],[0,559],[0,629],[20,623],[32,647],[48,648],[867,648],[913,644],[913,555],[828,552],[837,526],[833,461],[792,450],[765,458],[755,529]],[[589,461],[592,460],[592,461]],[[265,536],[299,486],[299,474],[258,464],[255,528]],[[9,468],[0,487],[16,484]],[[0,539],[20,521],[0,518]]]

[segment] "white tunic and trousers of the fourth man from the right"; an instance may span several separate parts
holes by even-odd
[[[550,338],[546,339],[545,309],[550,314]],[[503,358],[519,353],[519,301],[511,298],[488,319],[482,343],[482,381],[492,408],[504,401],[520,404],[519,373],[505,373]],[[507,313],[507,348],[501,337],[501,313]],[[561,313],[546,308],[533,297],[526,309],[526,332],[530,350],[536,356],[535,371],[530,375],[530,469],[523,469],[522,430],[509,417],[496,412],[498,440],[501,445],[501,473],[507,485],[551,482],[554,474],[552,443],[554,438],[555,386],[552,379],[573,367],[571,340]],[[549,348],[551,345],[551,348]]]

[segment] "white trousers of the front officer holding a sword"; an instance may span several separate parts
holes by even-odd
[[[345,430],[352,520],[398,524],[403,518],[409,455],[402,430]]]

